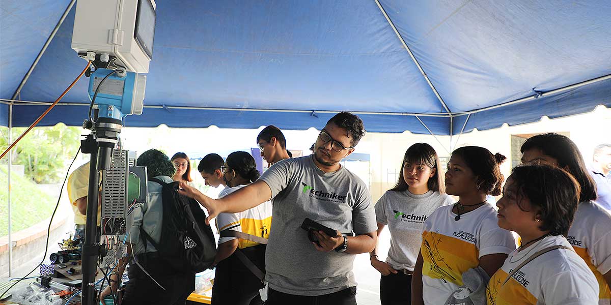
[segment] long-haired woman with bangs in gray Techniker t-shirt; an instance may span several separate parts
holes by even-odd
[[[378,237],[388,226],[390,249],[386,261],[378,246],[370,253],[371,266],[381,273],[381,305],[409,304],[414,265],[422,243],[426,218],[437,207],[453,204],[445,193],[439,157],[431,145],[415,143],[405,152],[397,185],[376,203]],[[397,293],[397,291],[401,293]]]

